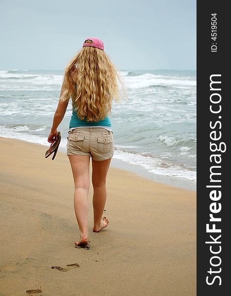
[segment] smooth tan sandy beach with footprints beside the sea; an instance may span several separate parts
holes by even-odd
[[[110,167],[108,227],[92,232],[91,185],[75,248],[71,168],[47,148],[0,138],[0,296],[196,295],[196,192]]]

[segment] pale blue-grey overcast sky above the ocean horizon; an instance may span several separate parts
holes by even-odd
[[[63,70],[87,37],[118,70],[196,70],[196,0],[0,0],[0,70]]]

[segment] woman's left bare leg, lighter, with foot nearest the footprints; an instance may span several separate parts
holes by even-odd
[[[69,155],[74,178],[74,211],[79,225],[80,240],[77,246],[86,245],[88,241],[88,192],[90,156]]]

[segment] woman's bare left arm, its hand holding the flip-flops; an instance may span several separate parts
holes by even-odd
[[[64,85],[64,83],[63,83],[63,85]],[[62,91],[63,91],[63,85],[62,85],[62,88],[61,88],[61,94],[62,94]],[[57,128],[58,128],[58,126],[60,125],[61,121],[64,118],[68,102],[69,101],[65,101],[65,102],[61,103],[59,101],[59,104],[58,104],[58,106],[56,108],[56,111],[55,111],[55,114],[54,114],[53,123],[52,123],[52,127],[51,127],[51,132],[50,132],[50,134],[48,136],[48,140],[47,140],[49,143],[52,143],[57,139],[57,134],[58,134]]]

